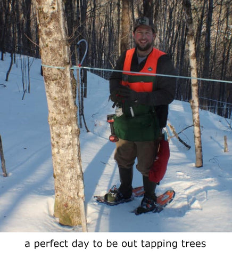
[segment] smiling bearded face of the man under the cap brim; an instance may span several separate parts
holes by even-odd
[[[148,26],[139,26],[134,33],[135,44],[140,51],[147,51],[153,47],[155,34]]]

